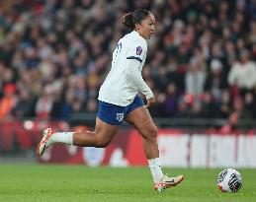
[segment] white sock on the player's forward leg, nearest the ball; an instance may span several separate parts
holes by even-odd
[[[161,177],[163,176],[160,159],[155,158],[155,159],[147,160],[147,162],[153,177],[153,181],[155,183],[159,182]]]

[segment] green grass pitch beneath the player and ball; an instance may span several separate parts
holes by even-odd
[[[158,193],[147,168],[87,168],[85,166],[1,165],[0,201],[256,201],[256,169],[239,169],[238,193],[216,188],[221,169],[165,168],[184,174],[182,184]]]

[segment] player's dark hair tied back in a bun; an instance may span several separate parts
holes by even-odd
[[[140,24],[141,21],[150,14],[145,9],[138,9],[133,12],[125,14],[122,18],[122,23],[129,29],[134,30],[136,24]]]

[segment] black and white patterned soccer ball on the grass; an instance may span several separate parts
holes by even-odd
[[[242,187],[242,175],[233,168],[226,168],[217,175],[217,187],[222,192],[237,192]]]

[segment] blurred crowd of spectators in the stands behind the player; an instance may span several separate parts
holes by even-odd
[[[5,3],[4,3],[5,2]],[[128,11],[150,10],[153,116],[256,118],[254,0],[16,0],[0,5],[0,119],[97,111]]]

